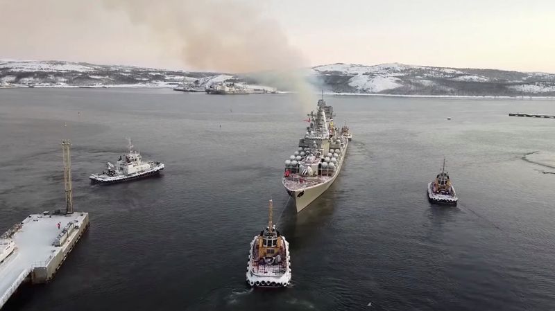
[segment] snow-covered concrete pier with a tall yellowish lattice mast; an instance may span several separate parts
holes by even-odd
[[[74,212],[69,141],[62,141],[65,210],[28,215],[0,236],[0,308],[26,281],[50,281],[89,226],[89,214]]]

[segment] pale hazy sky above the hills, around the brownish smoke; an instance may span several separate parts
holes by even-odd
[[[210,10],[218,15],[229,12],[232,19],[247,26],[251,19],[267,19],[266,26],[280,28],[283,34],[273,44],[282,46],[288,42],[294,50],[291,54],[302,54],[302,64],[306,66],[401,62],[555,73],[554,0],[197,1],[212,2]],[[168,8],[164,8],[166,11],[146,8],[145,12],[164,19],[164,12],[176,11],[172,6],[182,3],[184,7],[191,6],[197,1],[150,1]],[[118,2],[0,0],[0,58],[198,68],[198,64],[191,63],[191,57],[182,55],[186,53],[182,45],[190,46],[191,42],[183,42],[187,39],[181,37],[173,39],[173,30],[156,32],[160,27],[171,27],[169,24],[160,21],[155,21],[155,26],[142,21],[134,24],[123,10],[108,8]],[[213,5],[214,2],[221,3]],[[228,10],[228,6],[244,6],[255,16],[242,15],[242,7]],[[196,9],[195,14],[202,16],[207,6],[202,4]],[[180,10],[184,10],[182,27],[198,26],[187,24],[189,19],[185,17],[191,14],[188,8]],[[144,12],[138,14],[133,18]],[[207,23],[215,20],[210,18],[207,17]],[[212,27],[219,28],[219,22]],[[257,30],[259,24],[252,27]],[[225,37],[227,28],[221,26],[218,31]],[[264,30],[260,32],[264,36]],[[203,40],[210,42],[214,37]],[[198,39],[195,44],[203,46]],[[266,46],[261,51],[268,48],[275,46]]]

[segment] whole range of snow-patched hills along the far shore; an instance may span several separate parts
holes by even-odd
[[[446,95],[446,96],[555,96],[555,75],[495,69],[456,69],[407,64],[328,64],[306,71],[315,89],[336,93]],[[199,88],[216,82],[258,85],[260,74],[171,71],[135,66],[60,61],[0,60],[1,86],[133,86],[176,87],[184,80]],[[268,79],[264,82],[268,82]],[[275,81],[277,81],[275,79]],[[286,84],[287,85],[287,84]],[[271,87],[284,87],[271,85]],[[280,89],[280,91],[288,91]]]

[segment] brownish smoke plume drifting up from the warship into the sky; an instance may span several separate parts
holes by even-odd
[[[105,6],[150,28],[169,55],[178,53],[194,69],[255,73],[263,81],[266,71],[266,80],[298,94],[303,109],[314,105],[315,92],[299,71],[305,58],[256,6],[221,0],[105,0]]]

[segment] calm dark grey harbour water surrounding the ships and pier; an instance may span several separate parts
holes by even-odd
[[[507,116],[555,114],[552,100],[330,96],[354,140],[335,184],[297,215],[280,184],[306,126],[291,99],[1,90],[0,231],[64,206],[63,138],[76,210],[91,215],[56,278],[5,309],[555,309],[555,175],[522,160],[555,151],[555,121]],[[128,136],[163,175],[90,185]],[[425,195],[443,157],[456,208]],[[250,291],[248,245],[269,198],[293,285]]]

